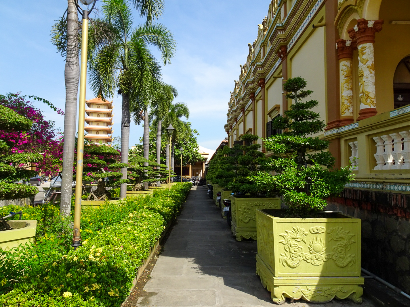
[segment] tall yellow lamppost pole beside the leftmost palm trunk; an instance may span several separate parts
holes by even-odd
[[[82,194],[82,165],[84,157],[84,116],[85,89],[87,84],[87,43],[88,43],[88,12],[83,12],[81,39],[81,75],[80,75],[80,105],[78,108],[78,143],[77,143],[77,173],[75,177],[75,208],[73,246],[81,246],[81,194]]]

